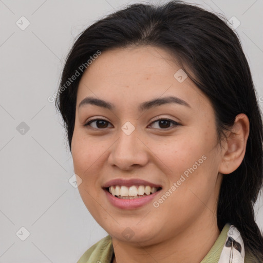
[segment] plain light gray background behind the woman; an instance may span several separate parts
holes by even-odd
[[[68,182],[72,158],[62,121],[47,98],[58,88],[74,37],[98,18],[138,2],[0,0],[0,262],[77,262],[107,235]],[[241,22],[236,31],[262,109],[263,1],[191,3]],[[21,16],[30,22],[25,30],[16,25]],[[21,122],[29,126],[24,135],[16,129]],[[262,205],[261,198],[255,212],[263,230]],[[22,227],[30,233],[25,241],[18,238],[26,233]]]

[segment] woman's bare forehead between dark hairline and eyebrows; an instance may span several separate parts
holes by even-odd
[[[181,70],[172,54],[158,47],[104,51],[83,73],[77,104],[90,95],[127,104],[166,96],[176,96],[190,105],[209,103],[187,75],[182,76],[182,82],[176,79]]]

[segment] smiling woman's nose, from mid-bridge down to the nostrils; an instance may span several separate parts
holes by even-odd
[[[109,164],[121,170],[129,171],[148,162],[148,148],[136,129],[129,135],[120,129],[119,138],[110,149]]]

